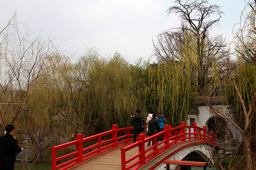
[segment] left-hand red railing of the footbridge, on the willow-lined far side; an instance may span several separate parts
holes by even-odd
[[[75,141],[52,147],[52,170],[69,169],[70,167],[75,166],[76,164],[80,164],[87,159],[132,142],[132,134],[129,133],[129,131],[132,129],[133,127],[118,129],[117,125],[112,125],[112,130],[108,130],[97,135],[92,135],[90,137],[82,138],[82,134],[77,134]],[[124,132],[125,135],[118,136],[118,132]],[[102,137],[107,137],[107,135],[111,134],[112,138],[102,141]],[[85,145],[87,142],[91,142],[92,140],[97,140],[97,143],[83,148],[83,145]],[[75,152],[71,152],[69,154],[57,157],[58,150],[73,146],[75,146]],[[83,154],[83,152],[87,153]],[[70,160],[64,161],[63,159]],[[57,165],[57,162],[59,161],[63,161],[63,163]]]

